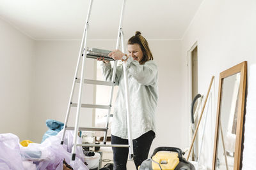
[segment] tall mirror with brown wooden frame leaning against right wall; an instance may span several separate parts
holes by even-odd
[[[247,62],[220,73],[212,169],[240,169]]]

